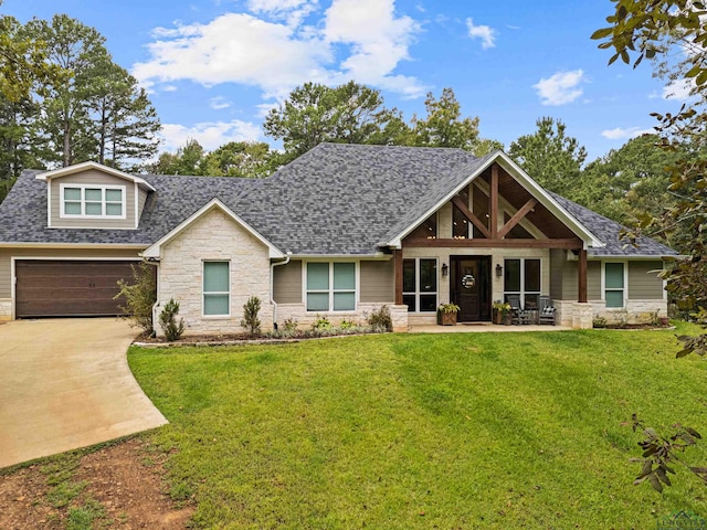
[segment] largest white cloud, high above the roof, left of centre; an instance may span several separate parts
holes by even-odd
[[[317,0],[249,0],[255,14],[226,13],[201,24],[157,28],[149,59],[133,66],[155,91],[188,80],[204,86],[238,83],[257,86],[266,99],[282,100],[305,82],[339,84],[350,80],[403,96],[428,87],[397,75],[420,25],[394,13],[394,0],[331,0],[320,20],[303,25]]]

